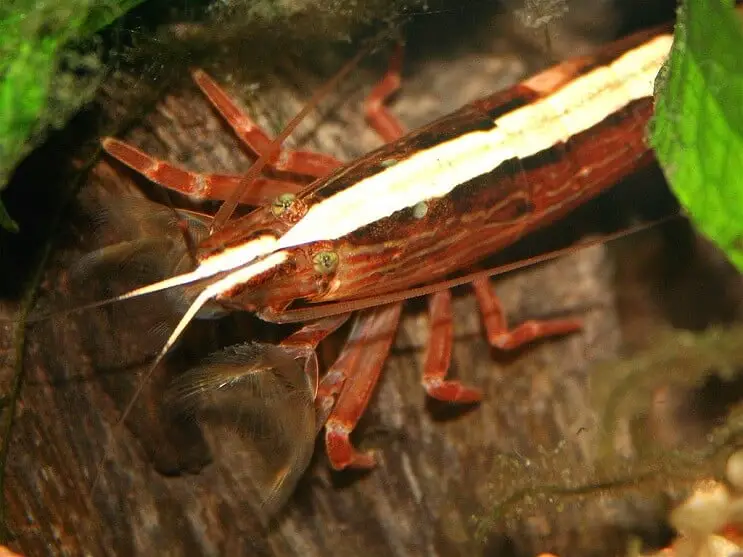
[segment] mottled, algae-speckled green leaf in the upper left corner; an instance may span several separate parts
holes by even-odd
[[[82,41],[143,1],[0,1],[0,190],[48,129],[92,98],[104,68],[95,41]],[[11,223],[0,202],[0,226]]]

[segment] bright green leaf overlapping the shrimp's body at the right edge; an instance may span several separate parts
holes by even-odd
[[[743,19],[685,0],[656,83],[651,144],[697,228],[743,270]]]

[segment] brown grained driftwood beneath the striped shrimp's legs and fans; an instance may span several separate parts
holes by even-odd
[[[493,25],[501,33],[505,29],[497,20]],[[464,43],[469,51],[457,50],[449,59],[439,52],[412,64],[393,105],[406,125],[429,121],[545,62],[512,36],[471,39]],[[514,45],[520,52],[511,50]],[[361,70],[320,116],[303,125],[297,142],[344,158],[378,145],[363,124],[360,106],[364,91],[380,74],[379,62]],[[188,63],[182,60],[179,68],[184,76]],[[279,70],[256,78],[233,72],[231,63],[222,59],[206,69],[274,132],[328,75],[279,64]],[[100,101],[104,121],[121,116],[121,90],[138,83],[123,74],[107,84]],[[260,83],[253,94],[251,83]],[[239,172],[248,167],[237,141],[187,79],[172,82],[157,101],[126,139],[193,169]],[[40,164],[41,156],[29,164]],[[20,174],[26,179],[44,175],[28,167]],[[80,292],[65,269],[93,244],[91,207],[115,203],[116,195],[138,186],[154,191],[110,160],[95,163],[81,201],[58,232],[44,274],[43,307],[91,301],[123,288],[114,276],[105,285],[83,283],[85,292]],[[629,194],[608,205],[606,200],[592,205],[543,240],[596,232],[597,222],[621,212],[616,205],[621,200],[647,204],[663,187],[659,173],[651,172]],[[591,217],[593,225],[585,224]],[[103,235],[115,238],[116,230],[104,229]],[[624,247],[578,250],[498,279],[496,288],[512,323],[576,314],[584,320],[581,333],[513,354],[488,347],[474,300],[462,289],[455,306],[452,373],[486,393],[483,403],[471,408],[448,408],[424,397],[419,376],[427,317],[424,304],[408,304],[394,353],[355,435],[361,447],[378,450],[379,466],[367,474],[330,473],[318,443],[295,496],[269,525],[256,517],[247,455],[239,441],[219,435],[205,439],[191,424],[169,422],[158,401],[169,376],[217,346],[245,338],[276,339],[286,329],[249,317],[196,323],[147,387],[127,427],[114,428],[137,384],[137,372],[158,348],[160,337],[149,333],[158,322],[153,306],[132,304],[113,313],[84,312],[32,325],[4,494],[11,546],[29,556],[402,556],[604,555],[623,552],[630,533],[662,544],[665,509],[662,499],[639,496],[647,486],[621,493],[610,487],[575,496],[561,493],[595,483],[595,413],[588,379],[597,363],[619,358],[627,339],[629,345],[641,345],[643,334],[658,322],[702,327],[738,314],[737,286],[720,287],[737,284],[735,279],[728,280],[726,267],[706,263],[693,268],[702,283],[709,284],[710,276],[719,280],[710,294],[713,301],[691,304],[680,318],[669,311],[678,307],[676,300],[688,298],[678,282],[670,289],[659,286],[666,267],[658,254],[666,253],[669,244],[676,244],[671,259],[686,254],[691,261],[697,241],[683,225],[675,225]],[[645,265],[648,261],[652,264]],[[650,304],[653,289],[662,292],[663,304]],[[15,306],[8,300],[3,307],[10,314]],[[327,357],[341,341],[326,347]],[[11,339],[2,342],[10,361]],[[4,381],[11,371],[4,371]],[[91,492],[104,455],[103,473]],[[520,488],[533,492],[494,515],[495,505]]]

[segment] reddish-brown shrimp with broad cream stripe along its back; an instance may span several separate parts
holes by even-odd
[[[466,272],[651,162],[645,128],[671,41],[668,27],[632,35],[408,134],[383,105],[400,85],[398,50],[365,106],[384,146],[348,164],[298,151],[268,157],[273,170],[314,182],[261,176],[241,198],[260,206],[201,241],[193,270],[127,295],[171,286],[188,292],[185,314],[154,365],[204,308],[274,322],[300,320],[293,312],[301,308],[306,323],[297,332],[278,345],[248,343],[213,356],[175,381],[170,402],[197,414],[224,404],[249,408],[249,420],[274,430],[270,443],[283,449],[278,471],[259,486],[267,502],[291,492],[322,427],[333,468],[372,467],[373,454],[354,449],[349,434],[400,319],[402,302],[382,303],[385,296]],[[266,153],[268,136],[206,74],[196,71],[194,79],[245,144]],[[202,199],[226,199],[241,183],[172,167],[116,139],[103,146],[147,178]],[[580,328],[577,319],[560,319],[509,330],[489,281],[472,284],[493,346],[513,349]],[[381,305],[359,306],[368,309],[353,315],[345,347],[320,375],[318,343],[351,317],[348,308],[356,306],[344,303],[360,300]],[[313,313],[317,304],[338,309]],[[432,293],[428,307],[426,393],[453,403],[480,400],[478,389],[446,379],[450,292]]]

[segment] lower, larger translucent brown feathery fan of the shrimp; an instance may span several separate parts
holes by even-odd
[[[277,510],[309,465],[314,449],[314,388],[304,366],[272,344],[233,345],[171,384],[165,405],[218,437],[245,443],[245,471],[263,510]]]

